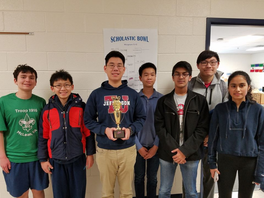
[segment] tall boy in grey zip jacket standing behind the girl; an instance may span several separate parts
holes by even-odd
[[[228,100],[226,84],[220,79],[224,73],[217,70],[220,64],[219,56],[216,52],[205,50],[199,54],[196,63],[200,73],[190,80],[188,89],[204,95],[207,99],[209,110],[211,111],[217,104]],[[210,168],[207,164],[207,142],[208,135],[204,139],[203,197],[214,198],[214,180],[211,178]],[[182,188],[183,194],[185,194],[184,186]]]

